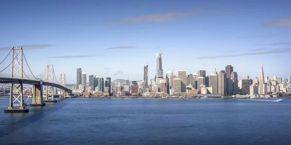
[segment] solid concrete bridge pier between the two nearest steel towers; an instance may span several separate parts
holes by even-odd
[[[45,106],[43,103],[43,85],[33,85],[32,87],[32,103],[30,106]]]

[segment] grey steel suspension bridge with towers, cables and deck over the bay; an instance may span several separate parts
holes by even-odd
[[[54,89],[56,88],[61,89],[60,98],[66,98],[66,95],[72,94],[72,90],[65,87],[65,74],[61,74],[60,83],[57,81],[53,65],[47,65],[45,73],[43,74],[42,78],[39,79],[36,78],[35,75],[33,75],[21,46],[12,47],[6,58],[8,58],[10,53],[12,54],[10,64],[0,71],[1,73],[9,66],[11,66],[11,77],[0,77],[0,84],[11,84],[9,106],[7,109],[4,109],[5,113],[29,112],[29,109],[26,108],[27,101],[24,101],[23,98],[24,84],[32,85],[32,103],[30,104],[30,106],[45,106],[46,104],[44,102],[57,102],[54,99]],[[4,60],[6,58],[4,58]],[[24,58],[24,62],[28,66],[28,69],[32,74],[33,79],[30,79],[23,71],[22,58]],[[0,65],[4,62],[4,60],[0,62]],[[45,80],[43,80],[45,74],[47,74],[47,77]],[[24,76],[27,79],[23,79]],[[56,83],[54,81],[56,81]],[[43,100],[43,86],[46,87],[45,100]]]

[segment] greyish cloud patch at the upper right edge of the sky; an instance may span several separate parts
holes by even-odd
[[[266,20],[262,22],[262,25],[265,27],[288,28],[291,27],[291,17]]]

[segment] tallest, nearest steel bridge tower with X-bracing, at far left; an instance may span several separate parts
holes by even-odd
[[[19,82],[14,82],[11,84],[9,106],[7,109],[4,110],[4,112],[24,113],[28,112],[29,110],[25,108],[26,105],[23,101],[22,47],[20,46],[12,47],[11,51],[12,51],[11,78],[18,78],[21,80]]]

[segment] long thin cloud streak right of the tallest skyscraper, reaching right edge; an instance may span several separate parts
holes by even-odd
[[[199,59],[230,58],[230,57],[251,56],[251,55],[287,53],[287,52],[291,52],[291,48],[275,49],[275,50],[271,50],[271,51],[254,52],[254,53],[242,53],[242,54],[235,54],[235,55],[203,56],[203,57],[198,57],[198,58]]]

